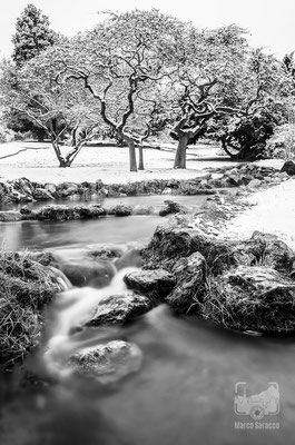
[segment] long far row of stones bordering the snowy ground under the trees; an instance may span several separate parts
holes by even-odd
[[[292,161],[288,161],[292,162]],[[96,182],[33,182],[27,178],[0,181],[0,202],[32,202],[55,199],[90,199],[96,196],[139,195],[214,195],[216,189],[245,186],[247,188],[278,184],[294,172],[288,164],[282,171],[255,164],[207,169],[194,179],[153,179],[128,184]]]

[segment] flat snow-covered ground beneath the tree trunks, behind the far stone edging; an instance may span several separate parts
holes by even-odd
[[[218,147],[195,146],[188,150],[187,169],[174,170],[176,146],[166,145],[161,150],[145,150],[145,171],[130,172],[128,148],[85,147],[70,168],[59,168],[50,144],[31,141],[0,145],[0,177],[16,179],[26,177],[33,181],[96,181],[105,184],[128,182],[142,179],[194,178],[207,167],[222,167],[234,164],[227,158],[209,160],[216,156]]]

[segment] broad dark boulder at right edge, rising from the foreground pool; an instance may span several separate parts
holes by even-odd
[[[238,266],[210,277],[200,313],[236,330],[295,332],[295,283],[265,266]]]

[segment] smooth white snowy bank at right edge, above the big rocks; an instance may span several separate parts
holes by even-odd
[[[232,219],[220,237],[247,238],[254,230],[277,235],[295,249],[295,179],[252,195],[256,204]]]

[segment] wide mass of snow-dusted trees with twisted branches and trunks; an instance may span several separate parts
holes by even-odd
[[[294,109],[293,55],[279,62],[250,48],[234,24],[201,30],[134,10],[61,39],[29,4],[13,41],[14,66],[2,69],[7,116],[46,131],[62,166],[106,127],[128,145],[131,171],[144,168],[144,141],[163,130],[178,141],[175,168],[186,168],[188,144],[206,134],[232,157],[255,158]],[[73,151],[63,158],[69,134]]]

